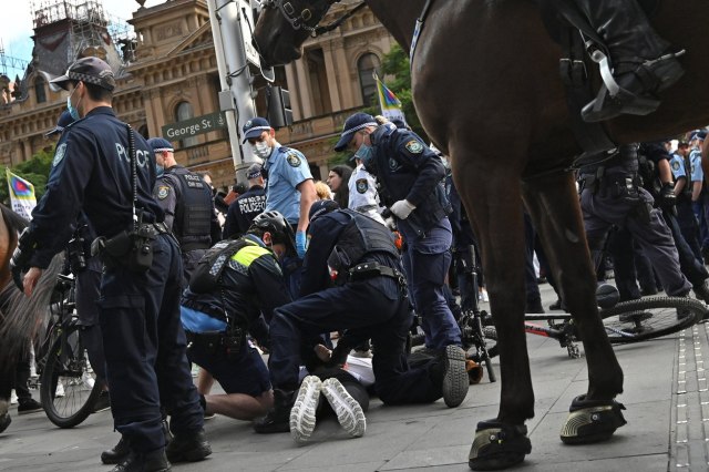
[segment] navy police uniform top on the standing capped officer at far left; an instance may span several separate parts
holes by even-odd
[[[137,132],[137,203],[146,219],[162,222],[164,214],[153,198],[155,156]],[[47,193],[30,224],[37,244],[30,266],[47,268],[52,256],[64,248],[80,212],[86,215],[97,236],[112,237],[132,226],[132,172],[129,133],[113,109],[100,106],[68,126],[54,154]]]

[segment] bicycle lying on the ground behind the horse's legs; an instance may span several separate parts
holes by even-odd
[[[612,345],[671,335],[701,321],[708,312],[709,308],[702,301],[684,297],[648,297],[599,310]],[[546,321],[547,326],[533,321]],[[524,329],[532,335],[556,339],[571,358],[580,357],[576,327],[569,314],[525,315]],[[497,339],[493,326],[485,326],[483,332],[490,340]],[[497,347],[491,347],[489,353],[496,356]]]

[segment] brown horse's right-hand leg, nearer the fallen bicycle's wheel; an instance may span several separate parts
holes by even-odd
[[[528,179],[523,189],[588,365],[588,391],[572,403],[562,440],[583,443],[608,439],[625,424],[623,406],[614,400],[623,392],[623,370],[598,316],[596,276],[574,181],[568,173],[552,174]]]

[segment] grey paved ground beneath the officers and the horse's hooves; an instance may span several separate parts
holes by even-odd
[[[544,306],[555,300],[543,285]],[[571,359],[555,340],[527,336],[536,394],[536,417],[527,422],[532,454],[524,471],[708,470],[706,425],[709,392],[702,352],[708,325],[639,345],[617,347],[625,370],[618,399],[628,424],[597,445],[565,447],[558,433],[572,399],[586,391],[584,358]],[[37,392],[35,392],[37,393]],[[311,442],[297,447],[289,434],[259,435],[246,422],[217,417],[206,431],[214,450],[206,462],[177,464],[179,471],[466,471],[480,420],[497,412],[500,383],[485,376],[471,386],[458,409],[443,401],[420,407],[384,407],[373,400],[367,433],[350,439],[337,421],[318,424]],[[101,451],[115,444],[111,413],[91,415],[72,430],[53,427],[41,413],[17,415],[0,434],[0,470],[102,471]],[[670,455],[671,452],[671,455]]]

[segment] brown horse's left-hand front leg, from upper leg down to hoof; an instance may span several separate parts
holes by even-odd
[[[455,147],[450,143],[449,146],[454,153]],[[525,420],[534,417],[534,392],[523,322],[522,197],[510,170],[465,157],[453,160],[453,176],[482,246],[502,383],[497,418],[477,423],[469,465],[473,470],[494,470],[522,462],[532,450],[524,425]]]

